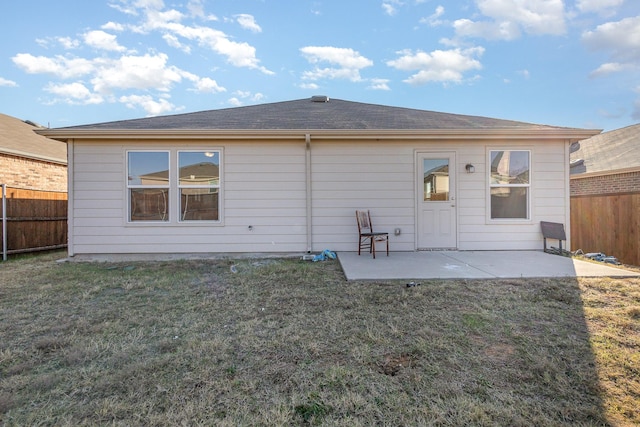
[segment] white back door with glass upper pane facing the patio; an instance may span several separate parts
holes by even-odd
[[[455,249],[456,154],[418,153],[418,249]]]

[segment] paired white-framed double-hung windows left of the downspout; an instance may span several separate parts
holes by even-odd
[[[220,221],[220,157],[220,150],[128,151],[128,222]]]

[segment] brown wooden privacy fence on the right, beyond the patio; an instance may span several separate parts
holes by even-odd
[[[640,265],[640,193],[572,196],[571,248]]]

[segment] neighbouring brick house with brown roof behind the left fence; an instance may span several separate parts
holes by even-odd
[[[0,184],[67,191],[67,145],[34,132],[37,126],[0,114]]]

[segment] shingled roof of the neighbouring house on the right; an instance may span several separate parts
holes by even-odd
[[[640,124],[575,143],[571,165],[571,175],[640,170]]]

